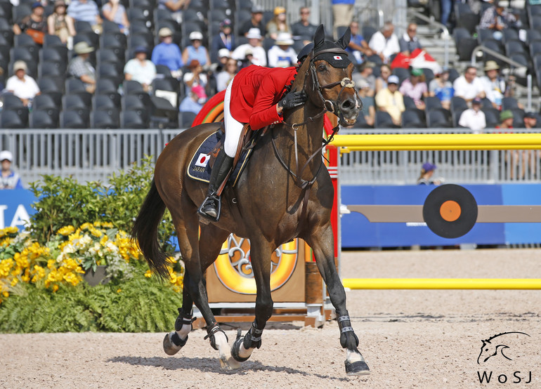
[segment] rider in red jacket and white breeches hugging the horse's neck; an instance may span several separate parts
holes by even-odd
[[[233,78],[223,98],[223,123],[226,127],[226,139],[212,167],[207,198],[198,210],[201,216],[218,221],[220,196],[219,187],[229,176],[233,168],[233,158],[237,152],[242,128],[250,124],[253,131],[270,124],[283,121],[283,110],[304,104],[304,92],[287,93],[286,87],[292,83],[299,65],[312,51],[313,44],[301,49],[293,67],[275,67],[269,69],[258,65],[245,67]],[[233,95],[234,104],[231,103]]]

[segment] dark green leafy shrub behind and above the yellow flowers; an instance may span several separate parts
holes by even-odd
[[[130,231],[141,204],[150,189],[153,168],[150,157],[141,165],[113,173],[108,185],[99,182],[78,183],[73,178],[42,176],[30,184],[38,201],[32,206],[36,213],[30,218],[28,230],[34,239],[44,245],[58,229],[73,225],[78,228],[86,222],[110,222],[119,230]],[[169,242],[174,236],[174,225],[169,211],[159,224],[159,237],[164,251],[173,253]]]

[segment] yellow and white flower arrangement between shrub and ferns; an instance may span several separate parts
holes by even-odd
[[[182,263],[174,257],[170,262],[171,286],[181,291]],[[82,275],[96,271],[98,265],[107,265],[107,277],[115,282],[130,279],[135,272],[152,276],[136,243],[112,223],[84,223],[79,228],[67,225],[45,246],[27,232],[4,228],[0,230],[0,303],[18,282],[56,292],[62,284],[77,286]]]

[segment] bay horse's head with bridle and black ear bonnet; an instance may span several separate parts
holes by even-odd
[[[304,88],[311,103],[337,115],[342,126],[354,124],[362,107],[351,80],[353,62],[344,50],[350,38],[347,29],[338,41],[325,40],[325,29],[320,25],[313,48],[299,69],[299,74],[305,74]]]

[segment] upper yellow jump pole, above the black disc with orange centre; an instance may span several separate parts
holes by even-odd
[[[336,135],[341,152],[377,150],[541,150],[541,133]]]

